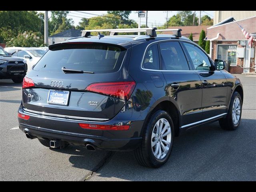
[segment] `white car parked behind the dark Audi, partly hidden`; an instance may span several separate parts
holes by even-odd
[[[6,47],[4,48],[12,56],[22,57],[27,61],[28,72],[46,53],[46,50],[35,47]]]

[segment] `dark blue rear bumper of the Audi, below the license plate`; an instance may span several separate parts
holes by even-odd
[[[85,146],[92,144],[96,149],[111,151],[130,151],[134,150],[141,143],[140,132],[143,120],[126,121],[123,124],[130,124],[129,130],[88,130],[78,125],[80,120],[68,120],[61,118],[51,118],[40,114],[31,114],[23,110],[22,106],[19,113],[29,115],[29,120],[18,118],[20,130],[29,133],[31,136],[46,140],[62,140],[74,145]],[[128,113],[128,111],[126,111]],[[90,124],[117,124],[120,123],[118,114],[112,120],[105,122],[88,122]],[[127,114],[126,114],[127,115]],[[138,116],[137,116],[138,118]]]

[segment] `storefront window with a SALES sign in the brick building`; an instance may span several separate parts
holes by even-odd
[[[236,65],[236,45],[218,45],[217,59],[222,59],[230,65]]]

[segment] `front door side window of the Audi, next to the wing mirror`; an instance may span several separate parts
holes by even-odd
[[[195,45],[192,45],[190,43],[184,43],[184,45],[188,50],[188,54],[192,59],[195,69],[209,71],[211,64],[208,56],[206,56],[206,54]]]

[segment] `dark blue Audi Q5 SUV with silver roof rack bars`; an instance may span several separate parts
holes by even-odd
[[[219,121],[236,130],[243,88],[225,62],[180,30],[145,31],[85,31],[50,45],[24,78],[18,121],[26,137],[59,149],[134,150],[139,164],[157,168],[170,157],[174,136],[192,127]]]

